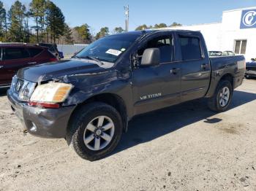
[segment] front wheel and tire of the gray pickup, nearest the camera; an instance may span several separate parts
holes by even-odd
[[[122,134],[121,116],[102,102],[78,109],[69,122],[67,143],[86,160],[99,160],[116,148]]]

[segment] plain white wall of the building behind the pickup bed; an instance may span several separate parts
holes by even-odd
[[[247,9],[256,9],[250,7]],[[246,61],[256,58],[256,28],[240,29],[242,9],[223,12],[222,23],[178,26],[166,29],[201,31],[206,39],[208,50],[235,50],[235,40],[246,39]]]

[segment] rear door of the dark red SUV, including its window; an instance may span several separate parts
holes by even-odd
[[[4,74],[2,79],[10,84],[12,77],[19,69],[29,66],[29,52],[24,47],[6,47],[4,48]]]

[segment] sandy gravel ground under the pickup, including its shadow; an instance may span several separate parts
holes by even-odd
[[[230,110],[206,101],[135,117],[112,155],[82,160],[62,139],[23,134],[0,95],[0,190],[256,190],[256,80]]]

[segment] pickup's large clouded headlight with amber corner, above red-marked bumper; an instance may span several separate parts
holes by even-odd
[[[49,82],[38,85],[31,95],[30,101],[34,103],[57,104],[64,102],[72,90],[72,85],[61,82]]]

